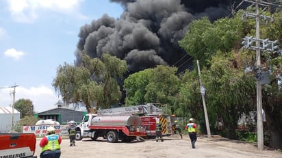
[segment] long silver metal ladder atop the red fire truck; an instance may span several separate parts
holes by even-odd
[[[145,105],[135,105],[129,107],[116,107],[111,109],[99,109],[98,114],[112,114],[112,115],[151,115],[162,114],[162,109],[159,109],[152,103]]]

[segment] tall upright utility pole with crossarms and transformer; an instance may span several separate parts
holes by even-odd
[[[262,97],[261,97],[261,89],[262,89],[262,81],[261,81],[261,50],[264,51],[274,51],[274,49],[277,49],[277,47],[274,47],[274,44],[277,43],[277,41],[270,41],[268,39],[265,40],[261,40],[259,39],[259,21],[261,19],[266,20],[266,22],[268,21],[273,21],[272,16],[263,16],[259,14],[259,5],[263,5],[263,6],[269,6],[271,5],[271,3],[268,3],[266,1],[261,1],[261,0],[245,0],[247,2],[253,3],[255,4],[255,10],[256,13],[252,14],[252,13],[248,13],[246,12],[245,14],[243,14],[243,17],[253,17],[255,18],[256,21],[256,34],[255,34],[255,38],[248,37],[246,36],[245,38],[243,38],[243,42],[242,44],[244,44],[244,48],[246,49],[252,49],[256,51],[256,62],[257,62],[257,66],[256,68],[253,68],[254,70],[256,70],[256,77],[257,77],[257,81],[256,81],[256,85],[257,85],[257,148],[259,150],[263,150],[264,149],[264,129],[263,129],[263,118],[262,118]],[[255,44],[255,45],[253,45]]]

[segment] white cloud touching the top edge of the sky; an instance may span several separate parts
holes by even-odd
[[[15,21],[31,23],[38,18],[40,11],[49,10],[62,14],[75,14],[85,18],[78,10],[79,3],[84,0],[7,0],[9,10]]]

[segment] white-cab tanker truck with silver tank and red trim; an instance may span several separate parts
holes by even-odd
[[[141,127],[141,118],[130,115],[98,115],[86,114],[76,127],[75,140],[90,137],[97,140],[103,137],[107,142],[131,142],[138,137],[146,136]]]

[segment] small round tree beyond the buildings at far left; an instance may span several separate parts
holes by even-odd
[[[34,105],[29,99],[18,99],[18,101],[14,103],[14,108],[21,113],[21,118],[34,115]]]

